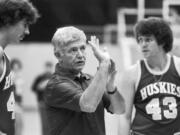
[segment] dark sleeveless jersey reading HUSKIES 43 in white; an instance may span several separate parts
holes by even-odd
[[[145,62],[140,62],[141,76],[134,105],[134,135],[180,135],[180,76],[174,58],[167,71],[153,75]]]

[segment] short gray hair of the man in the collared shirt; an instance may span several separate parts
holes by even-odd
[[[82,30],[74,26],[58,28],[52,38],[54,52],[56,53],[61,47],[76,41],[86,42],[86,35]]]

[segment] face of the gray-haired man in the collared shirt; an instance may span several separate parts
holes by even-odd
[[[60,59],[61,65],[75,72],[80,72],[86,62],[86,42],[76,41],[64,47],[63,54]]]

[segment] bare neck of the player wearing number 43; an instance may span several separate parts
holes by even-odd
[[[147,60],[147,64],[149,65],[149,67],[156,71],[162,71],[166,67],[167,62],[168,55],[166,53]]]

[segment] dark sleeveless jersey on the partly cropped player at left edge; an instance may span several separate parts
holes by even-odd
[[[3,74],[0,76],[0,134],[14,135],[14,83],[10,61],[4,55]]]

